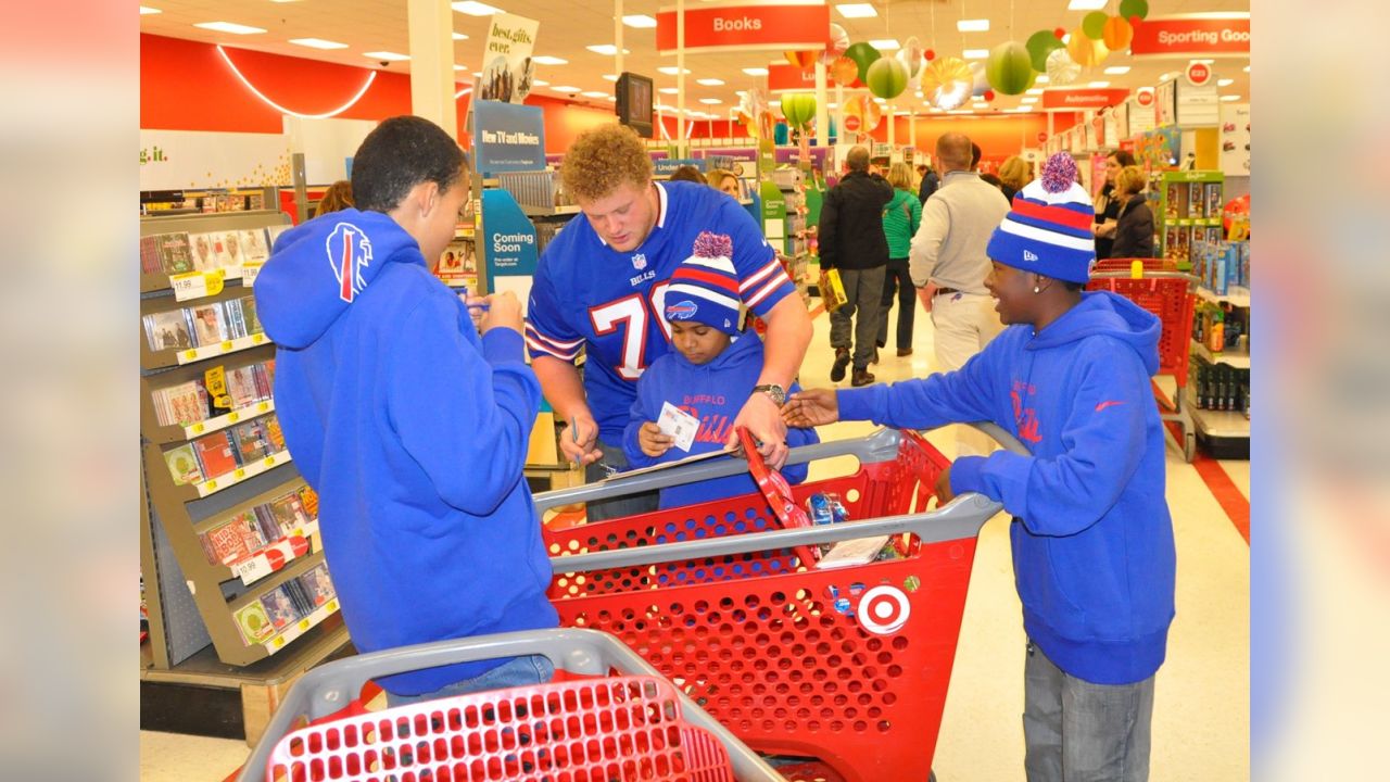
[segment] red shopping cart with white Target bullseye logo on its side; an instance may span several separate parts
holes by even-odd
[[[972,493],[931,511],[948,462],[916,433],[795,448],[788,462],[842,455],[858,472],[792,497],[834,491],[865,520],[778,529],[766,498],[749,494],[550,532],[550,598],[563,625],[613,633],[758,751],[819,758],[823,779],[926,781],[976,537],[1001,508]],[[746,469],[691,465],[541,494],[537,505]],[[873,536],[902,541],[905,555],[817,569],[796,554]]]

